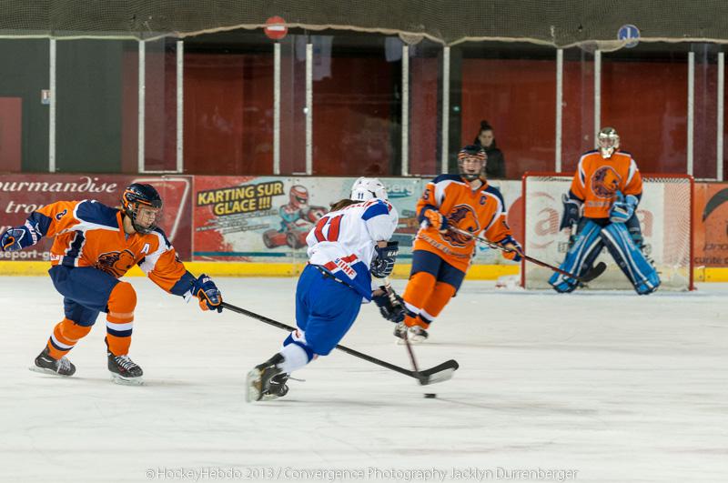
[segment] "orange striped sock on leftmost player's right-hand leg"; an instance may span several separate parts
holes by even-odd
[[[119,282],[108,297],[106,344],[115,356],[126,356],[131,346],[136,292],[127,282]]]

